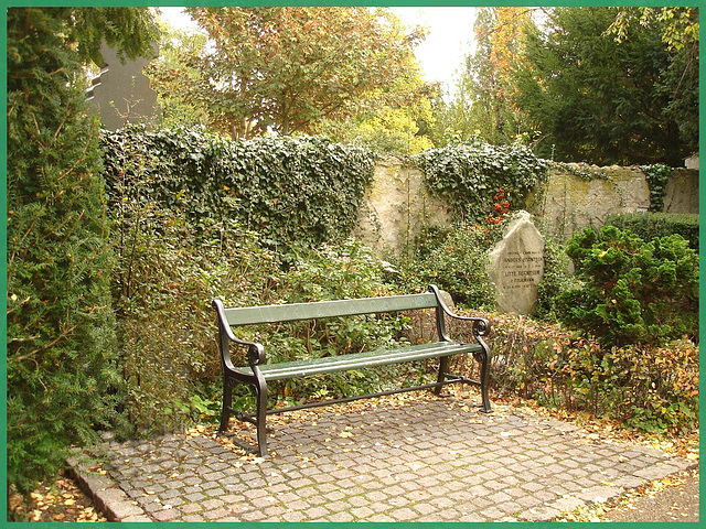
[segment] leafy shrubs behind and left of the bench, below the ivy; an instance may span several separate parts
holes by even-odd
[[[119,300],[126,406],[138,435],[175,431],[217,414],[221,365],[212,299],[247,306],[395,292],[385,281],[389,264],[354,240],[300,248],[301,257],[289,253],[292,260],[284,270],[284,256],[266,249],[257,234],[237,227],[196,229],[184,216],[149,204],[133,203],[122,213],[116,219],[121,229],[116,230],[114,295]],[[142,222],[136,225],[136,218]],[[239,333],[264,343],[272,361],[285,361],[397,343],[404,325],[403,317],[381,315],[243,327]],[[235,348],[234,361],[247,365],[245,350]],[[378,390],[397,373],[352,371],[269,389],[274,398],[342,397]],[[239,389],[235,398],[240,404],[252,403],[247,388]]]

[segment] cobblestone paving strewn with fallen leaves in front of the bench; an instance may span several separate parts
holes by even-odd
[[[79,476],[120,521],[547,521],[693,465],[445,399],[308,417],[272,422],[267,458],[175,434],[107,442]]]

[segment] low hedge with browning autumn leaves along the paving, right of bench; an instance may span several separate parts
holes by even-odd
[[[643,432],[677,434],[698,427],[699,355],[689,341],[606,348],[526,316],[469,314],[490,320],[492,391],[498,395],[613,419]],[[462,324],[451,332],[472,339]],[[468,369],[474,368],[468,361]]]

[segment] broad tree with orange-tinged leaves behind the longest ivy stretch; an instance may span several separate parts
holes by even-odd
[[[158,90],[202,107],[233,138],[267,130],[315,132],[360,110],[372,90],[388,104],[421,33],[402,33],[368,8],[189,8],[212,46],[185,50],[179,66],[149,69]],[[370,101],[367,101],[370,102]]]

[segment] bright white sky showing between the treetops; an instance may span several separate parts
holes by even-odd
[[[182,8],[160,8],[170,25],[192,29],[195,24]],[[474,8],[389,8],[405,25],[429,28],[427,39],[415,50],[427,82],[441,82],[453,90],[458,69],[471,51]]]

